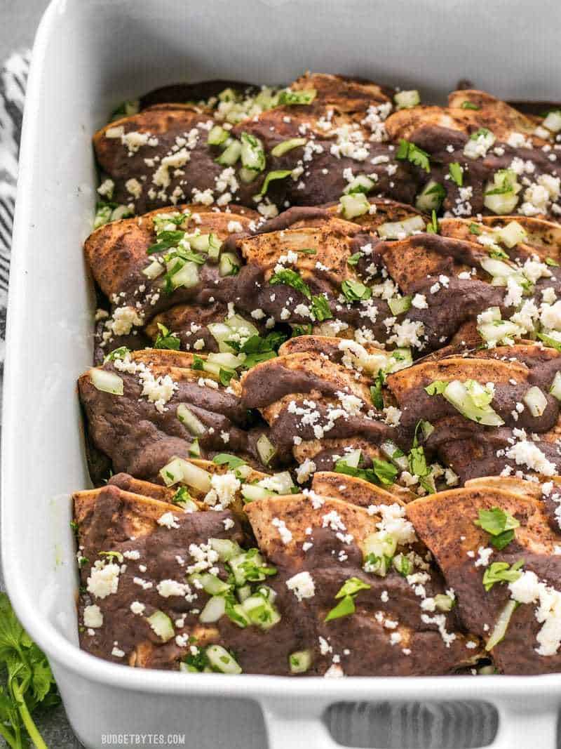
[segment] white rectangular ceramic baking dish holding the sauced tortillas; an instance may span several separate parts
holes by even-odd
[[[322,713],[355,700],[485,700],[500,712],[493,747],[554,747],[561,674],[288,681],[93,658],[77,644],[69,495],[89,485],[76,377],[91,365],[81,251],[95,201],[91,135],[120,100],[184,80],[286,82],[307,68],[418,86],[426,99],[469,77],[500,97],[559,100],[560,20],[558,4],[527,0],[52,1],[34,47],[13,236],[2,560],[16,612],[88,748],[131,733],[263,748],[259,706],[271,748],[329,747]]]

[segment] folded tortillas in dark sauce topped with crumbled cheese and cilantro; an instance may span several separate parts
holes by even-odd
[[[141,668],[561,669],[561,109],[322,73],[93,136],[79,637]]]

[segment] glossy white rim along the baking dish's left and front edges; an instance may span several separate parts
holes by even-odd
[[[79,0],[70,0],[70,2]],[[52,33],[55,16],[64,13],[69,0],[52,0],[47,8],[34,43],[31,71],[28,79],[25,118],[22,129],[20,163],[22,178],[17,192],[16,221],[13,231],[12,271],[10,298],[7,316],[7,360],[4,374],[2,480],[1,480],[1,524],[2,565],[7,592],[22,625],[53,661],[61,667],[100,684],[110,684],[126,690],[154,692],[159,694],[197,694],[220,697],[248,697],[265,701],[286,700],[289,686],[291,700],[306,700],[312,703],[321,697],[323,704],[355,700],[488,700],[502,703],[508,700],[530,700],[543,709],[552,708],[561,695],[561,674],[547,676],[486,676],[476,679],[470,676],[435,677],[346,677],[345,679],[323,679],[309,677],[291,679],[281,676],[242,675],[224,678],[220,674],[170,673],[157,670],[138,670],[112,664],[95,658],[70,643],[46,617],[37,611],[34,601],[25,591],[18,564],[18,542],[13,524],[11,502],[17,496],[17,477],[13,473],[16,434],[21,425],[22,414],[16,410],[13,395],[18,392],[15,380],[18,341],[22,330],[19,311],[25,304],[26,281],[21,272],[25,253],[30,252],[26,227],[31,220],[33,206],[28,201],[34,179],[34,145],[37,143],[37,103],[40,100],[40,70],[46,50],[46,42]],[[12,499],[13,498],[13,499]]]

